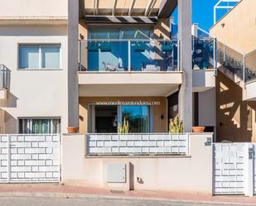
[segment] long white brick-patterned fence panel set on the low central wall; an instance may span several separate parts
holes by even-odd
[[[86,155],[188,155],[188,134],[87,134]]]

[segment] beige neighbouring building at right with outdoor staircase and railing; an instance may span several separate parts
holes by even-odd
[[[210,28],[217,39],[217,141],[256,141],[256,11],[241,0]]]

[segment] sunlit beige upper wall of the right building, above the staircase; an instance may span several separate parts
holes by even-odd
[[[241,0],[210,28],[210,36],[247,54],[256,49],[255,18],[255,0]]]

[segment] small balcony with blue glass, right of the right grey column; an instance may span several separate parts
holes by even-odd
[[[215,39],[193,37],[193,92],[204,92],[215,87],[216,56]]]

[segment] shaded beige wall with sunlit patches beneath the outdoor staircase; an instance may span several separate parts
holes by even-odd
[[[256,102],[243,101],[243,89],[218,73],[216,78],[217,141],[256,141]]]

